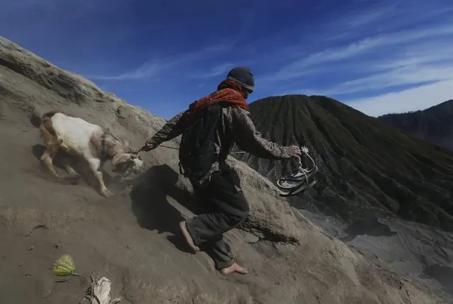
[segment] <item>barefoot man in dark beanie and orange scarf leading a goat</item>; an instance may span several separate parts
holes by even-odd
[[[248,67],[235,67],[209,96],[203,97],[169,120],[142,147],[150,151],[162,142],[181,135],[194,122],[202,108],[222,102],[222,114],[216,130],[217,161],[211,170],[199,179],[189,176],[203,213],[180,223],[181,232],[194,252],[204,247],[213,257],[216,269],[223,275],[233,272],[247,274],[236,264],[223,233],[240,225],[249,214],[247,200],[240,188],[240,179],[227,159],[234,143],[243,151],[267,159],[300,159],[301,150],[292,145],[284,147],[265,140],[250,119],[245,99],[255,90],[255,79]]]

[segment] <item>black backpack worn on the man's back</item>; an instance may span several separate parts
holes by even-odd
[[[220,103],[201,110],[196,122],[186,128],[179,145],[179,172],[201,179],[216,162],[216,131],[222,113]]]

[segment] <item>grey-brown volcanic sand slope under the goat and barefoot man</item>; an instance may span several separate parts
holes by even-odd
[[[53,109],[135,146],[164,123],[0,38],[0,303],[78,303],[98,272],[121,303],[447,303],[325,235],[234,159],[251,214],[227,238],[251,273],[221,276],[206,254],[184,252],[174,237],[192,201],[176,151],[145,154],[148,171],[128,183],[106,174],[113,198],[83,181],[57,183],[40,166],[33,126],[37,113]],[[54,283],[52,262],[61,254],[71,254],[80,276]]]

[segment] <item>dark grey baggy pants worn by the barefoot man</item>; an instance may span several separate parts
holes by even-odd
[[[186,220],[186,227],[194,244],[213,258],[216,269],[233,265],[223,233],[242,223],[249,215],[244,193],[236,187],[238,181],[235,171],[223,169],[212,174],[206,187],[194,186],[201,214]]]

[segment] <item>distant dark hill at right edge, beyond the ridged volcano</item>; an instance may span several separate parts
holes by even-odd
[[[453,150],[453,99],[423,111],[386,114],[378,119],[408,135]]]

